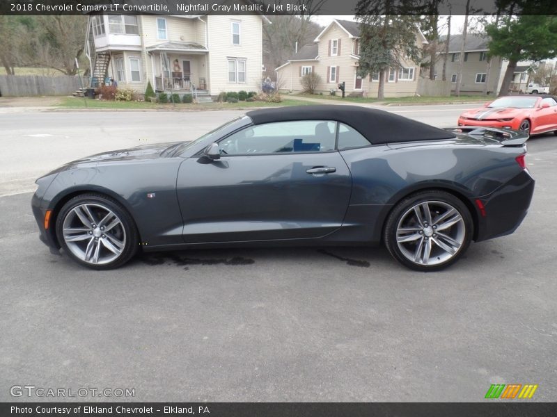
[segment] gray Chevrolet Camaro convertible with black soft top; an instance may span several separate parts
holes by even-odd
[[[36,181],[31,205],[42,241],[95,269],[138,250],[383,243],[439,270],[524,219],[527,139],[357,106],[269,108],[68,163]]]

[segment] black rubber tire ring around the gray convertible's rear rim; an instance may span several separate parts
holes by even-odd
[[[455,254],[455,256],[451,257],[450,259],[448,259],[448,261],[445,261],[444,263],[439,263],[438,265],[431,265],[431,266],[419,265],[412,261],[409,261],[409,259],[407,259],[406,256],[402,254],[396,242],[396,229],[398,226],[398,222],[400,222],[400,218],[402,218],[402,215],[412,206],[427,201],[439,201],[453,206],[462,216],[462,219],[464,220],[464,229],[465,229],[464,242],[462,243],[462,246],[460,247],[460,250],[458,250],[457,254]],[[383,234],[385,246],[387,250],[389,250],[389,253],[391,254],[391,256],[393,256],[394,259],[396,259],[397,261],[402,263],[402,265],[405,265],[412,270],[418,270],[423,272],[442,270],[444,268],[447,268],[449,265],[455,263],[458,259],[460,259],[460,256],[462,256],[464,252],[466,252],[466,250],[468,249],[472,240],[472,236],[473,236],[473,220],[469,208],[466,207],[466,204],[464,204],[464,202],[462,202],[460,198],[442,190],[420,191],[418,193],[414,193],[412,195],[409,195],[408,197],[405,197],[405,199],[402,199],[402,201],[400,201],[398,204],[394,206],[393,210],[389,214],[389,217],[387,218],[387,221],[385,223],[384,234]]]

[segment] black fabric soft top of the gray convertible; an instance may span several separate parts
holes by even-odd
[[[455,138],[454,133],[376,108],[361,106],[293,106],[263,108],[246,113],[254,124],[295,120],[334,120],[352,126],[373,145],[414,140]]]

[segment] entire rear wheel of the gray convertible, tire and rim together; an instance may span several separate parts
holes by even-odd
[[[402,199],[389,214],[383,233],[394,259],[423,272],[455,263],[468,249],[472,236],[469,209],[459,198],[441,190],[420,191]]]

